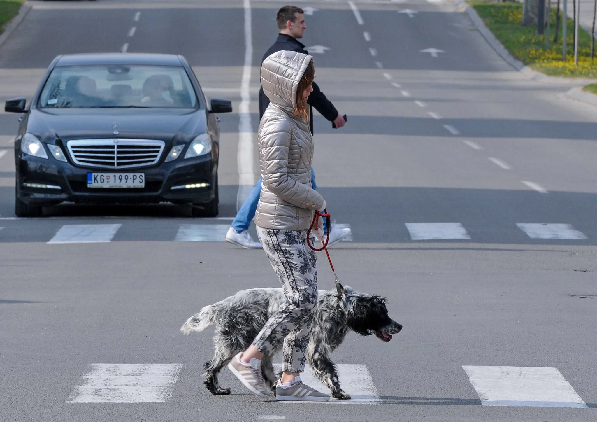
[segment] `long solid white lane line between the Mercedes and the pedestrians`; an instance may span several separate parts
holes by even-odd
[[[238,193],[236,210],[240,210],[255,184],[253,174],[253,125],[251,125],[251,66],[253,65],[253,29],[251,28],[251,1],[243,0],[245,9],[245,65],[242,69],[240,121],[238,124]]]

